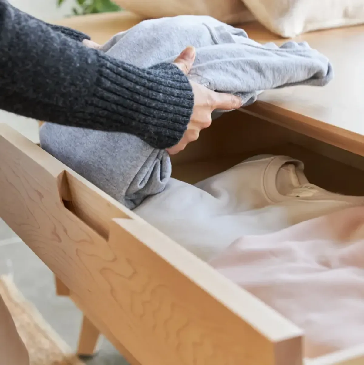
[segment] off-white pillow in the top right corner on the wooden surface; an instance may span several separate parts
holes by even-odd
[[[364,23],[364,0],[243,0],[270,31],[282,37]]]

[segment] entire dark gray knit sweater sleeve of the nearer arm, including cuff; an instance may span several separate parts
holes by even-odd
[[[191,118],[193,92],[176,66],[139,69],[86,48],[75,40],[82,35],[62,32],[0,0],[1,109],[128,132],[156,148],[178,143]]]

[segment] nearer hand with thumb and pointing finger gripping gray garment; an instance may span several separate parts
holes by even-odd
[[[186,75],[190,72],[193,62],[195,61],[196,50],[194,47],[187,47],[174,61],[174,64]],[[241,107],[239,96],[232,94],[218,93],[212,91],[197,82],[190,81],[194,95],[194,107],[190,123],[187,130],[179,143],[169,149],[169,154],[176,154],[188,145],[196,141],[200,131],[211,124],[211,113],[215,109],[232,110]]]

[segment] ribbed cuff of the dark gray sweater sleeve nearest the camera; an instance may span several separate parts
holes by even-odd
[[[132,134],[152,147],[162,149],[177,144],[194,105],[185,74],[173,64],[140,69],[106,54],[98,53],[98,57],[96,87],[85,113],[116,127],[122,120],[125,131],[130,128]]]

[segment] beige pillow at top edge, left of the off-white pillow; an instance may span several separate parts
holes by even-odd
[[[254,19],[241,0],[115,0],[121,8],[146,19],[177,15],[209,15],[221,22],[240,24]]]

